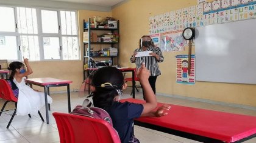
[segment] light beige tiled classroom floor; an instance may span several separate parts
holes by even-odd
[[[124,91],[123,98],[130,98],[130,90]],[[49,116],[49,125],[45,122],[42,122],[38,115],[32,115],[32,118],[29,116],[15,116],[10,125],[9,129],[6,128],[9,120],[10,115],[3,113],[0,116],[0,143],[9,143],[9,142],[59,142],[59,133],[57,130],[57,125],[55,124],[55,120],[51,115],[54,111],[59,111],[63,113],[68,112],[67,107],[67,99],[66,94],[52,94],[51,97],[53,98],[54,102],[51,104],[51,111]],[[136,98],[141,99],[141,93],[136,93]],[[217,111],[226,111],[230,113],[238,113],[243,115],[251,115],[256,116],[256,111],[254,110],[245,110],[243,108],[236,108],[230,106],[223,106],[223,105],[215,105],[215,104],[208,104],[205,102],[197,102],[197,101],[189,101],[185,99],[178,99],[178,98],[169,98],[166,96],[157,96],[158,102],[166,102],[169,104],[176,104],[176,105],[186,105],[190,107],[197,107],[197,108],[205,108],[210,110],[217,110]],[[79,97],[78,92],[71,93],[71,108],[75,107],[76,105],[82,104],[84,101],[84,97]],[[4,101],[0,99],[0,107],[2,107]],[[9,104],[8,108],[13,108],[14,104]],[[44,108],[41,110],[41,114],[45,118],[45,111]],[[196,141],[180,138],[179,136],[169,135],[167,133],[162,133],[160,131],[151,130],[148,128],[138,127],[135,126],[135,135],[140,142],[161,142],[161,143],[169,143],[169,142],[183,142],[183,143],[194,143]],[[256,138],[250,139],[246,141],[246,143],[255,143]]]

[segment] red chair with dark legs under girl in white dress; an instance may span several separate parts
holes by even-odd
[[[2,109],[0,111],[0,116],[1,116],[2,112],[4,112],[4,108],[8,102],[15,102],[15,110],[13,111],[12,118],[10,119],[10,121],[6,127],[6,128],[9,128],[9,126],[16,114],[18,98],[16,98],[14,96],[12,88],[10,87],[10,85],[8,84],[8,82],[5,79],[0,79],[0,98],[5,100],[4,105],[2,106]],[[5,110],[5,111],[9,111],[9,110]],[[39,114],[41,120],[44,122],[43,116],[41,115],[40,111],[38,111],[38,114]],[[30,115],[29,115],[29,118],[31,118]]]

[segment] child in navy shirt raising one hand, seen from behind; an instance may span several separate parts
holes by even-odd
[[[144,63],[137,70],[141,86],[144,89],[146,103],[135,104],[131,102],[119,102],[122,91],[127,87],[121,71],[115,67],[99,68],[93,76],[93,104],[94,107],[103,108],[108,112],[113,121],[113,127],[118,131],[121,142],[140,142],[133,135],[133,118],[140,116],[165,116],[165,110],[169,110],[169,105],[159,107],[157,111],[152,111],[157,107],[157,99],[149,84],[149,70]]]

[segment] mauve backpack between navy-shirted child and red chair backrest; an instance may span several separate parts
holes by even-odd
[[[77,105],[76,108],[74,108],[74,110],[71,111],[71,114],[87,116],[95,119],[103,119],[113,127],[112,119],[108,115],[107,111],[103,110],[102,108],[84,107],[82,105]]]

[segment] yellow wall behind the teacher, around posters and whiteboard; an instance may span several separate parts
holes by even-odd
[[[120,21],[119,63],[123,67],[135,67],[129,58],[138,48],[141,36],[149,34],[149,16],[196,4],[197,0],[130,0],[113,7],[112,16]],[[194,54],[194,47],[192,49]],[[157,79],[157,93],[256,107],[256,85],[197,81],[195,85],[176,84],[175,56],[184,54],[188,54],[187,47],[184,52],[163,53],[165,61],[159,64],[162,75]]]

